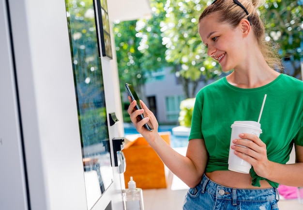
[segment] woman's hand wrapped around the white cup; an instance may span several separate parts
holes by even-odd
[[[242,139],[239,138],[232,141],[234,145],[231,148],[235,150],[234,153],[239,158],[252,164],[258,176],[266,178],[271,163],[267,158],[266,145],[254,134],[241,133],[239,137]]]

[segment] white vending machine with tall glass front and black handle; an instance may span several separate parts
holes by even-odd
[[[124,1],[0,2],[0,209],[123,210]]]

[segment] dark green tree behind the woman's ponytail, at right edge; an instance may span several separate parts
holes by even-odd
[[[300,61],[303,58],[303,10],[302,0],[268,0],[260,7],[265,18],[267,39],[280,47],[281,58],[289,61],[293,71],[286,73],[302,79]]]

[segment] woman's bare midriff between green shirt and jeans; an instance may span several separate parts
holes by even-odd
[[[272,187],[266,180],[260,180],[261,187],[255,187],[250,174],[242,174],[233,171],[213,171],[205,173],[212,181],[231,188],[262,189]]]

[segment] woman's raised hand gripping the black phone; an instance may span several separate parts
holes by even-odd
[[[141,108],[140,110],[136,110],[136,100],[132,101],[131,97],[128,97],[130,101],[130,105],[128,107],[128,114],[136,130],[147,140],[147,141],[154,141],[156,134],[158,133],[158,121],[155,115],[152,113],[151,110],[147,108],[145,103],[140,100]],[[139,117],[140,114],[143,114],[144,119],[141,120]],[[147,123],[150,127],[153,128],[152,131],[148,131],[144,124]]]

